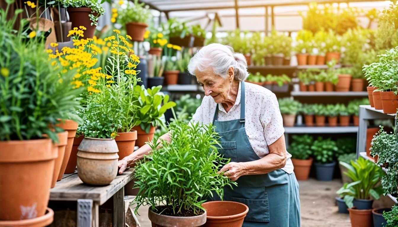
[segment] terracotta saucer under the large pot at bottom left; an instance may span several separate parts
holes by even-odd
[[[45,215],[18,221],[0,221],[0,226],[8,227],[45,227],[53,223],[54,211],[47,208]]]

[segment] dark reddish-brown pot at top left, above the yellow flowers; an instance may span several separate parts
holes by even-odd
[[[83,39],[93,38],[94,32],[96,31],[96,25],[91,25],[91,19],[88,15],[91,13],[91,8],[79,7],[79,8],[68,8],[69,20],[72,22],[72,29],[74,27],[79,28],[80,26],[86,27],[84,30]],[[67,32],[67,31],[65,31]]]

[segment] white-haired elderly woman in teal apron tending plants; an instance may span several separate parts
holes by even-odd
[[[201,48],[188,68],[206,95],[192,120],[217,127],[219,153],[231,159],[221,172],[238,183],[224,188],[223,199],[249,207],[244,227],[299,227],[298,183],[275,94],[244,82],[246,59],[229,46],[213,43]],[[162,139],[171,140],[168,134]],[[119,161],[119,172],[149,151],[145,145]]]

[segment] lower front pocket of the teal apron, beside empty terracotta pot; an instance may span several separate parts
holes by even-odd
[[[263,200],[247,200],[234,197],[232,197],[231,200],[245,204],[249,207],[245,221],[269,222],[269,204],[267,193],[265,193],[265,199]]]

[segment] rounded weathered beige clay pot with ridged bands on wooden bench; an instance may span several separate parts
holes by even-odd
[[[107,185],[117,174],[116,141],[85,137],[78,147],[77,173],[80,180],[90,185]]]

